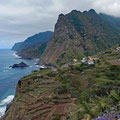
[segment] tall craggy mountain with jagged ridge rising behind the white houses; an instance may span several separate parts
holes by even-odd
[[[120,43],[120,18],[95,10],[73,10],[59,15],[55,31],[40,57],[40,64],[70,62]]]

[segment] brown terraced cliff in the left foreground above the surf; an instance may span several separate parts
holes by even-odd
[[[60,82],[49,69],[19,80],[15,98],[0,120],[64,120],[74,109],[70,94],[59,94]]]

